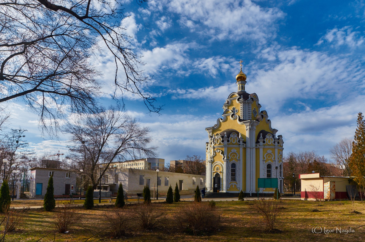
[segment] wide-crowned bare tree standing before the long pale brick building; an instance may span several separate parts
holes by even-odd
[[[69,146],[69,159],[75,170],[84,170],[85,182],[95,189],[111,162],[125,161],[141,155],[154,157],[150,129],[141,127],[137,120],[124,114],[119,108],[102,110],[97,114],[68,123],[65,132],[71,135],[74,145]]]

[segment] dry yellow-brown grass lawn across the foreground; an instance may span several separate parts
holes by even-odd
[[[31,202],[31,201],[30,201]],[[174,214],[189,202],[157,204],[167,215],[166,223],[151,231],[131,230],[125,241],[364,241],[365,203],[356,202],[355,210],[363,214],[350,214],[350,201],[313,202],[282,200],[283,214],[276,228],[282,233],[268,233],[260,222],[260,216],[252,211],[254,201],[216,202],[216,212],[221,216],[219,230],[207,236],[195,237],[177,230]],[[22,204],[21,206],[23,206]],[[29,204],[33,205],[33,204]],[[312,210],[319,212],[312,212]],[[5,241],[120,241],[110,238],[105,231],[103,216],[111,210],[107,207],[77,209],[78,222],[67,234],[53,233],[55,212],[28,211],[18,230],[7,234]],[[360,227],[362,226],[362,227]],[[314,234],[313,227],[334,229],[332,233]],[[336,233],[336,228],[354,230],[354,233]],[[358,227],[358,228],[357,228]],[[3,228],[1,227],[1,230]],[[317,229],[317,231],[320,231]],[[98,233],[98,234],[97,234]],[[48,235],[47,235],[48,234]],[[45,236],[46,235],[46,236]],[[44,237],[43,239],[41,239]]]

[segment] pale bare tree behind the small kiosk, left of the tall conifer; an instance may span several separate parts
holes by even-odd
[[[345,138],[330,149],[331,158],[343,170],[343,176],[351,176],[349,158],[352,153],[352,139]]]

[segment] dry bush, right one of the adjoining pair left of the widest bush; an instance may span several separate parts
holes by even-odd
[[[153,229],[164,225],[166,216],[156,205],[141,204],[132,209],[134,222],[141,229]]]

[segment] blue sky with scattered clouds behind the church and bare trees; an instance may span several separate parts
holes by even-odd
[[[127,112],[151,128],[158,157],[204,157],[205,127],[216,123],[222,105],[237,90],[235,76],[247,74],[246,91],[257,93],[272,127],[284,138],[284,153],[329,149],[353,138],[358,112],[365,112],[364,1],[124,0],[129,18],[120,24],[142,56],[143,87],[164,105],[149,114],[125,94]],[[104,71],[106,106],[114,91],[113,58],[91,60]],[[37,154],[67,153],[68,137],[41,136],[38,117],[22,103],[7,103],[11,125],[28,130]]]

